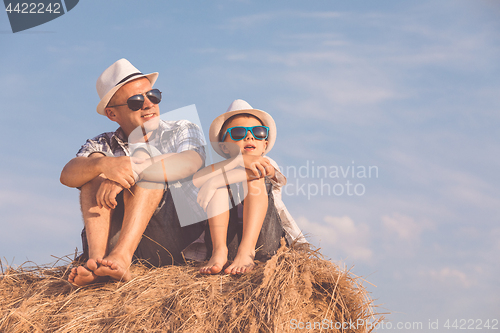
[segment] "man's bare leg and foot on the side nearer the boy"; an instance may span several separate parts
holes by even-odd
[[[133,186],[131,191],[133,195],[123,191],[124,216],[120,236],[111,252],[97,259],[100,266],[94,273],[98,276],[123,281],[130,279],[132,257],[164,193],[163,188],[144,188],[141,184]]]

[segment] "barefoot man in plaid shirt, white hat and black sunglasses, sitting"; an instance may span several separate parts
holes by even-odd
[[[78,286],[102,277],[129,280],[134,254],[154,266],[182,261],[181,251],[202,232],[199,225],[180,227],[164,184],[167,178],[170,184],[190,177],[204,165],[203,135],[186,120],[160,120],[161,92],[152,89],[157,77],[142,74],[126,59],[107,68],[97,80],[97,112],[120,127],[87,140],[61,173],[61,183],[80,189],[87,261],[68,278]],[[134,154],[131,147],[141,142],[145,148]],[[162,155],[149,159],[150,146]],[[138,154],[142,158],[133,157]],[[158,178],[160,186],[154,183]],[[188,204],[197,206],[192,183],[178,184]]]

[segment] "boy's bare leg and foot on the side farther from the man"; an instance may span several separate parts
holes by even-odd
[[[248,194],[243,205],[243,233],[233,263],[224,271],[243,274],[252,270],[255,246],[267,213],[268,195],[264,178],[248,182]]]

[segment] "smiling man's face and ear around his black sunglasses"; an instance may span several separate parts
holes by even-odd
[[[144,126],[146,132],[151,132],[158,127],[160,120],[160,108],[158,104],[153,104],[144,96],[144,105],[142,109],[132,111],[126,105],[129,97],[145,94],[150,90],[151,83],[145,77],[130,81],[118,89],[109,102],[109,105],[125,105],[105,108],[108,118],[112,121],[116,121],[127,136],[140,126]]]

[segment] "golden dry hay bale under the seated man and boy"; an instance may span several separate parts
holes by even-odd
[[[370,332],[359,323],[382,320],[359,278],[309,248],[282,246],[243,276],[205,276],[192,264],[133,265],[126,283],[75,288],[66,281],[70,266],[2,272],[0,331],[312,332],[319,324]]]

